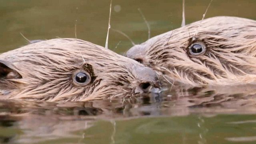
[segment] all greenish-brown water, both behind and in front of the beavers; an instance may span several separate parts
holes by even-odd
[[[110,0],[0,0],[0,52],[29,40],[75,37],[104,46]],[[186,23],[202,19],[210,0],[187,0]],[[256,19],[254,0],[214,0],[206,18]],[[113,0],[111,28],[139,44],[178,28],[182,0]],[[109,48],[131,42],[110,29]],[[10,144],[255,144],[254,86],[184,88],[161,96],[92,102],[0,101],[0,143]]]

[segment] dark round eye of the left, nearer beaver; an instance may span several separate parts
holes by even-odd
[[[74,84],[78,86],[84,86],[89,84],[91,81],[91,76],[85,71],[78,71],[73,76]]]

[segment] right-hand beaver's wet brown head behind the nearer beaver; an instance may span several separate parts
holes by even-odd
[[[254,84],[256,21],[208,18],[135,45],[126,56],[192,86]]]

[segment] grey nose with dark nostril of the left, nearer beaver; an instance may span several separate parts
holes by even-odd
[[[139,84],[135,89],[135,93],[151,92],[154,88],[160,88],[158,74],[148,67],[140,67],[136,69],[138,74]]]

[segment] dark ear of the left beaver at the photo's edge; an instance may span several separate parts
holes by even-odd
[[[0,78],[18,79],[22,78],[22,76],[14,69],[12,62],[0,60]]]

